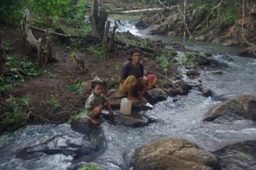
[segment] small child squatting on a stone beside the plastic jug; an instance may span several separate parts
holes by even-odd
[[[88,99],[85,101],[85,114],[89,116],[90,122],[97,125],[100,122],[96,119],[102,114],[102,107],[108,105],[108,113],[110,117],[113,117],[113,110],[109,104],[108,99],[102,94],[103,82],[100,80],[93,80],[90,85],[92,92]]]

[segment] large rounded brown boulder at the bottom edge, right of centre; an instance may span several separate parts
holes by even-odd
[[[138,149],[134,170],[219,170],[216,156],[185,139],[159,139]]]

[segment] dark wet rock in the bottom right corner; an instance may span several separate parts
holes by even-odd
[[[225,169],[256,169],[256,141],[248,140],[230,144],[213,154],[220,158],[220,163]]]

